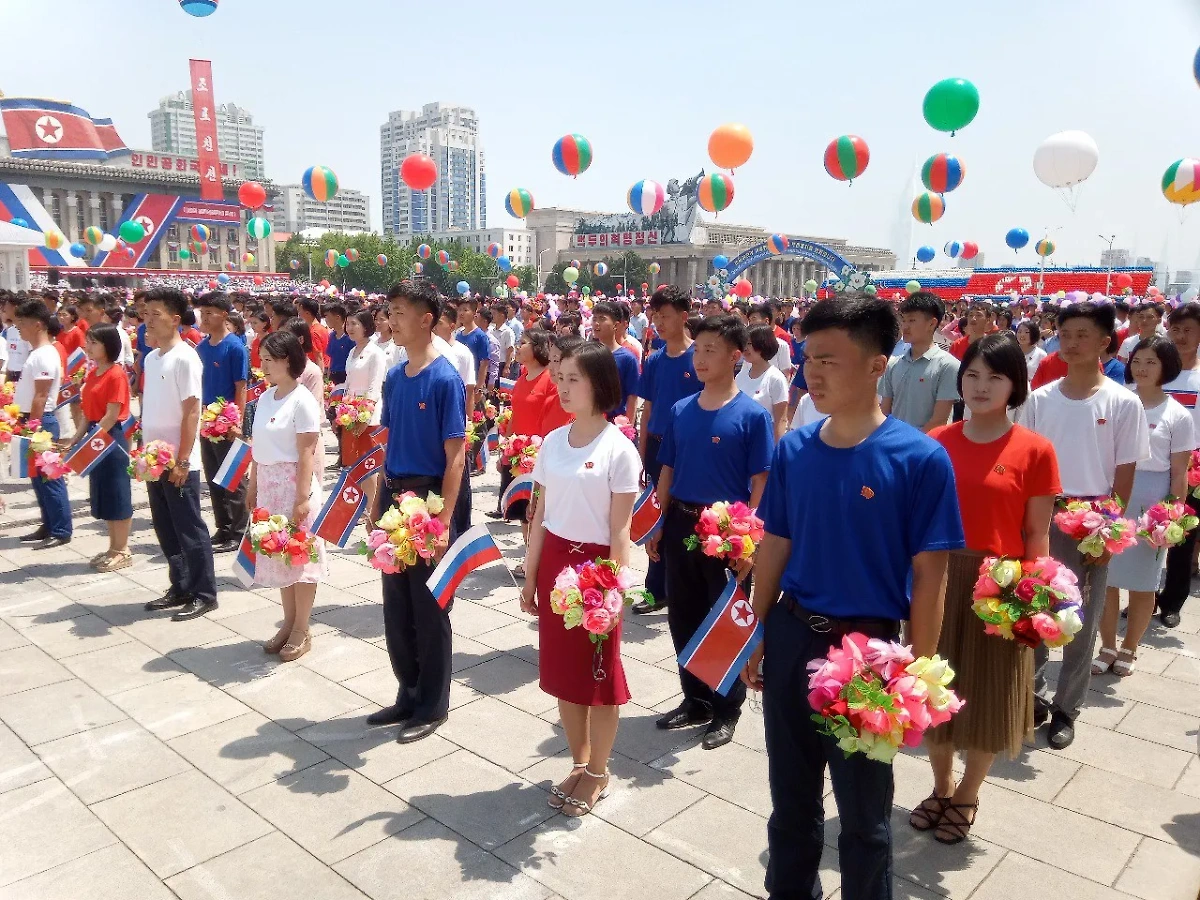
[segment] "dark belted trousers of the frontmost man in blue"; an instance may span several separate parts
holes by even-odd
[[[828,766],[841,826],[839,896],[890,900],[892,766],[864,754],[847,757],[833,738],[817,732],[810,718],[805,666],[824,656],[840,638],[814,632],[778,604],[764,629],[762,712],[772,805],[767,822],[767,893],[770,900],[821,900],[821,797]]]

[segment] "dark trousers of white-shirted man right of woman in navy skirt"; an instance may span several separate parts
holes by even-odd
[[[167,557],[170,587],[182,596],[204,602],[216,600],[212,540],[200,515],[200,473],[187,473],[182,487],[170,484],[169,474],[146,482],[146,493],[154,533]]]

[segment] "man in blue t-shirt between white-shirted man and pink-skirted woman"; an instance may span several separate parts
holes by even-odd
[[[227,294],[212,292],[196,301],[200,313],[206,340],[196,346],[204,370],[200,374],[200,403],[208,406],[217,400],[233,402],[239,412],[246,412],[246,380],[250,378],[250,352],[246,342],[233,332],[229,325],[229,312],[233,305]],[[235,430],[232,437],[240,437]],[[234,490],[227,491],[214,482],[217,472],[224,463],[229,440],[200,442],[200,464],[204,467],[204,480],[209,482],[209,499],[212,503],[212,520],[217,530],[212,535],[214,553],[232,553],[241,545],[241,535],[250,524],[250,510],[246,509],[246,479]]]

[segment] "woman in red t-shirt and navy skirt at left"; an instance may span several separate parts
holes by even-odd
[[[83,383],[79,401],[88,427],[107,431],[119,449],[100,461],[88,478],[91,515],[108,528],[108,550],[91,560],[97,571],[113,572],[133,564],[130,553],[130,529],[133,524],[133,503],[130,476],[126,473],[128,442],[121,428],[130,418],[130,379],[125,368],[116,365],[121,358],[121,336],[116,325],[94,325],[84,343],[95,367]]]

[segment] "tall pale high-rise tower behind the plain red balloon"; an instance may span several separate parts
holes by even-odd
[[[400,164],[416,152],[427,154],[438,167],[428,191],[409,190],[400,180]],[[474,109],[426,103],[419,113],[389,113],[379,128],[379,172],[384,233],[403,240],[487,227],[484,146]]]

